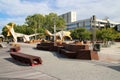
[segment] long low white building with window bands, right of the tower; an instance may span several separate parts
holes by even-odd
[[[83,19],[83,20],[78,20],[75,22],[67,23],[66,26],[67,26],[67,30],[70,30],[70,29],[75,29],[75,28],[80,28],[80,27],[85,27],[87,29],[91,29],[92,27],[104,28],[107,25],[109,25],[110,27],[115,27],[118,24],[120,24],[120,23],[113,22],[113,21],[109,20],[108,18],[98,19],[98,18],[96,18],[95,15],[93,15],[92,17],[90,17],[88,19]]]

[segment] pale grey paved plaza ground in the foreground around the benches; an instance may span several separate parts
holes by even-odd
[[[55,52],[36,50],[35,46],[21,44],[21,52],[43,60],[42,65],[34,67],[13,60],[9,47],[0,48],[0,80],[120,80],[120,63],[68,59]]]

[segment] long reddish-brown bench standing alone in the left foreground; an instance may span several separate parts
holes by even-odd
[[[30,66],[42,64],[42,60],[38,56],[28,55],[21,52],[10,52],[10,55],[13,59]]]

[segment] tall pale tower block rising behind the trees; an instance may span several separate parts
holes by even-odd
[[[76,21],[76,12],[71,11],[67,12],[65,14],[59,15],[59,17],[62,17],[66,23],[71,23]]]

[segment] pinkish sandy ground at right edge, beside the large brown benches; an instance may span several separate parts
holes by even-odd
[[[107,48],[101,48],[99,58],[102,61],[120,63],[120,42],[116,42]]]

